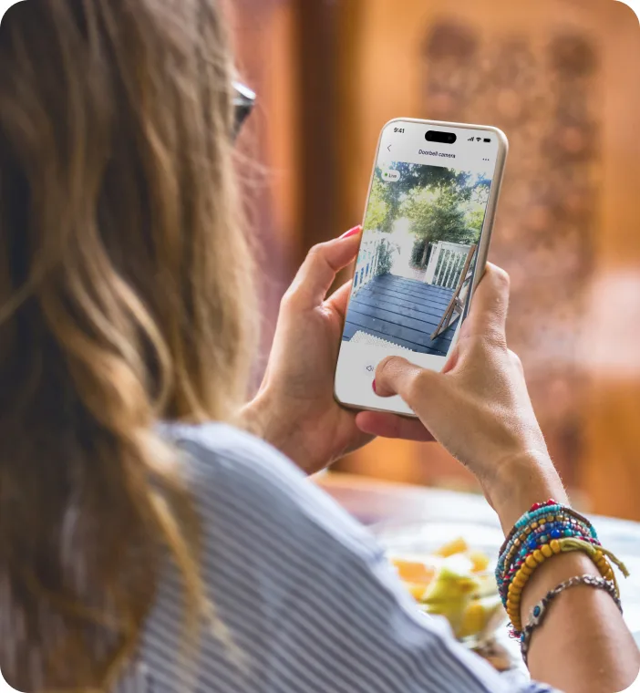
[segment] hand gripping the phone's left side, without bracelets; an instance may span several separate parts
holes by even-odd
[[[243,409],[246,428],[310,474],[372,440],[357,428],[357,412],[334,398],[351,282],[326,298],[335,275],[356,259],[361,233],[356,227],[311,249],[282,300],[262,387]]]

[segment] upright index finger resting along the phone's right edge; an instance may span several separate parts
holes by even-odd
[[[509,274],[495,264],[487,269],[471,302],[470,314],[460,339],[485,336],[506,344],[505,324],[509,311]]]

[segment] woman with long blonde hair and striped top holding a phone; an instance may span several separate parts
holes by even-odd
[[[28,691],[512,691],[416,613],[303,473],[374,435],[432,436],[505,532],[566,502],[506,347],[507,277],[488,269],[446,373],[378,367],[377,392],[419,420],[356,415],[331,385],[348,286],[325,296],[359,230],[315,247],[241,412],[254,325],[231,84],[215,0],[26,0],[2,22],[3,675]],[[579,552],[541,564],[522,614],[579,574],[597,575]],[[625,688],[638,661],[614,600],[585,585],[529,654],[534,677],[581,693]]]

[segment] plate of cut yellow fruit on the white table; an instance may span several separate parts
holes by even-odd
[[[460,641],[482,646],[506,623],[494,575],[500,530],[422,522],[374,532],[418,608],[444,616]]]

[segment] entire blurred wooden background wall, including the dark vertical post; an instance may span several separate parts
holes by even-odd
[[[635,15],[614,0],[232,6],[261,103],[243,146],[267,167],[250,191],[271,273],[265,347],[305,250],[361,221],[388,119],[498,125],[512,148],[490,256],[513,278],[511,344],[565,479],[594,511],[640,519]],[[379,440],[341,468],[474,485],[436,445]]]

